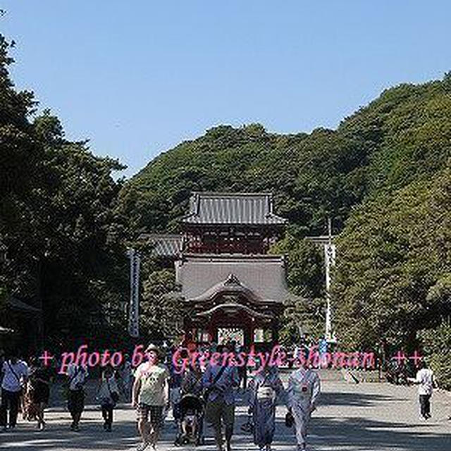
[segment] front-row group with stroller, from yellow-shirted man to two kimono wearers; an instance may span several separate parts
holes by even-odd
[[[204,443],[204,422],[212,426],[218,451],[231,450],[235,426],[235,400],[241,385],[238,366],[233,364],[208,364],[205,368],[190,359],[187,346],[179,354],[189,365],[178,374],[177,362],[171,361],[168,369],[161,363],[161,353],[151,345],[147,348],[147,362],[138,366],[132,390],[132,404],[138,412],[138,428],[142,443],[138,451],[155,447],[164,412],[172,404],[173,416],[178,426],[175,445]],[[219,345],[212,352],[223,356],[233,355],[233,344]],[[229,361],[230,362],[230,361]],[[175,367],[175,368],[174,368]],[[173,371],[171,371],[171,368]],[[173,393],[171,397],[170,393]],[[276,405],[287,407],[286,424],[295,426],[297,449],[307,446],[307,425],[316,408],[320,381],[316,371],[300,366],[292,371],[287,388],[284,388],[276,366],[260,365],[254,368],[254,377],[247,389],[249,422],[254,443],[259,450],[271,449],[276,431]],[[224,433],[223,433],[224,432]]]

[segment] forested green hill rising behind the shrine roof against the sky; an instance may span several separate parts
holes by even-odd
[[[191,190],[275,194],[298,236],[342,228],[352,206],[428,178],[450,157],[451,75],[400,85],[345,119],[338,130],[276,135],[262,125],[219,126],[164,152],[121,192],[137,230],[175,228]]]

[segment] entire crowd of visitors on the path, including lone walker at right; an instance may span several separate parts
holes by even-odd
[[[132,368],[125,358],[120,368],[106,366],[101,369],[96,390],[96,400],[104,420],[104,430],[113,426],[116,404],[130,402],[137,412],[137,430],[141,443],[137,451],[147,447],[156,449],[164,419],[172,409],[177,432],[175,445],[204,443],[204,423],[213,428],[218,451],[230,451],[235,426],[235,400],[246,371],[233,364],[202,365],[190,354],[196,346],[185,340],[180,344],[177,359],[189,364],[180,366],[173,350],[164,352],[149,345],[147,359]],[[180,351],[179,347],[179,351]],[[230,356],[236,352],[235,344],[213,345],[212,352]],[[302,351],[299,351],[302,352]],[[23,419],[36,421],[44,430],[44,409],[49,404],[52,371],[42,359],[32,358],[28,363],[10,352],[1,357],[0,431],[16,428],[18,413]],[[290,370],[288,384],[284,386],[277,366],[264,365],[257,358],[252,378],[244,383],[248,403],[248,421],[243,431],[252,433],[254,444],[260,451],[271,450],[276,431],[276,405],[286,407],[285,424],[295,429],[297,450],[307,446],[307,428],[311,413],[316,409],[320,394],[320,381],[316,371],[300,365]],[[80,431],[80,420],[85,409],[86,383],[89,373],[86,366],[70,364],[66,371],[65,387],[68,412],[72,418],[70,429]],[[431,416],[430,399],[433,391],[433,372],[423,368],[409,382],[419,385],[421,416]]]

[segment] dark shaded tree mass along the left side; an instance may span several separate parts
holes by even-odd
[[[0,37],[1,292],[42,309],[50,342],[101,340],[124,321],[122,183],[112,177],[123,166],[66,140],[50,111],[37,115],[33,94],[13,87],[7,52]]]

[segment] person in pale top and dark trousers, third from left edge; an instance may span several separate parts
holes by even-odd
[[[80,431],[80,419],[85,409],[85,383],[88,371],[86,366],[69,364],[67,370],[68,411],[72,416],[70,430]]]

